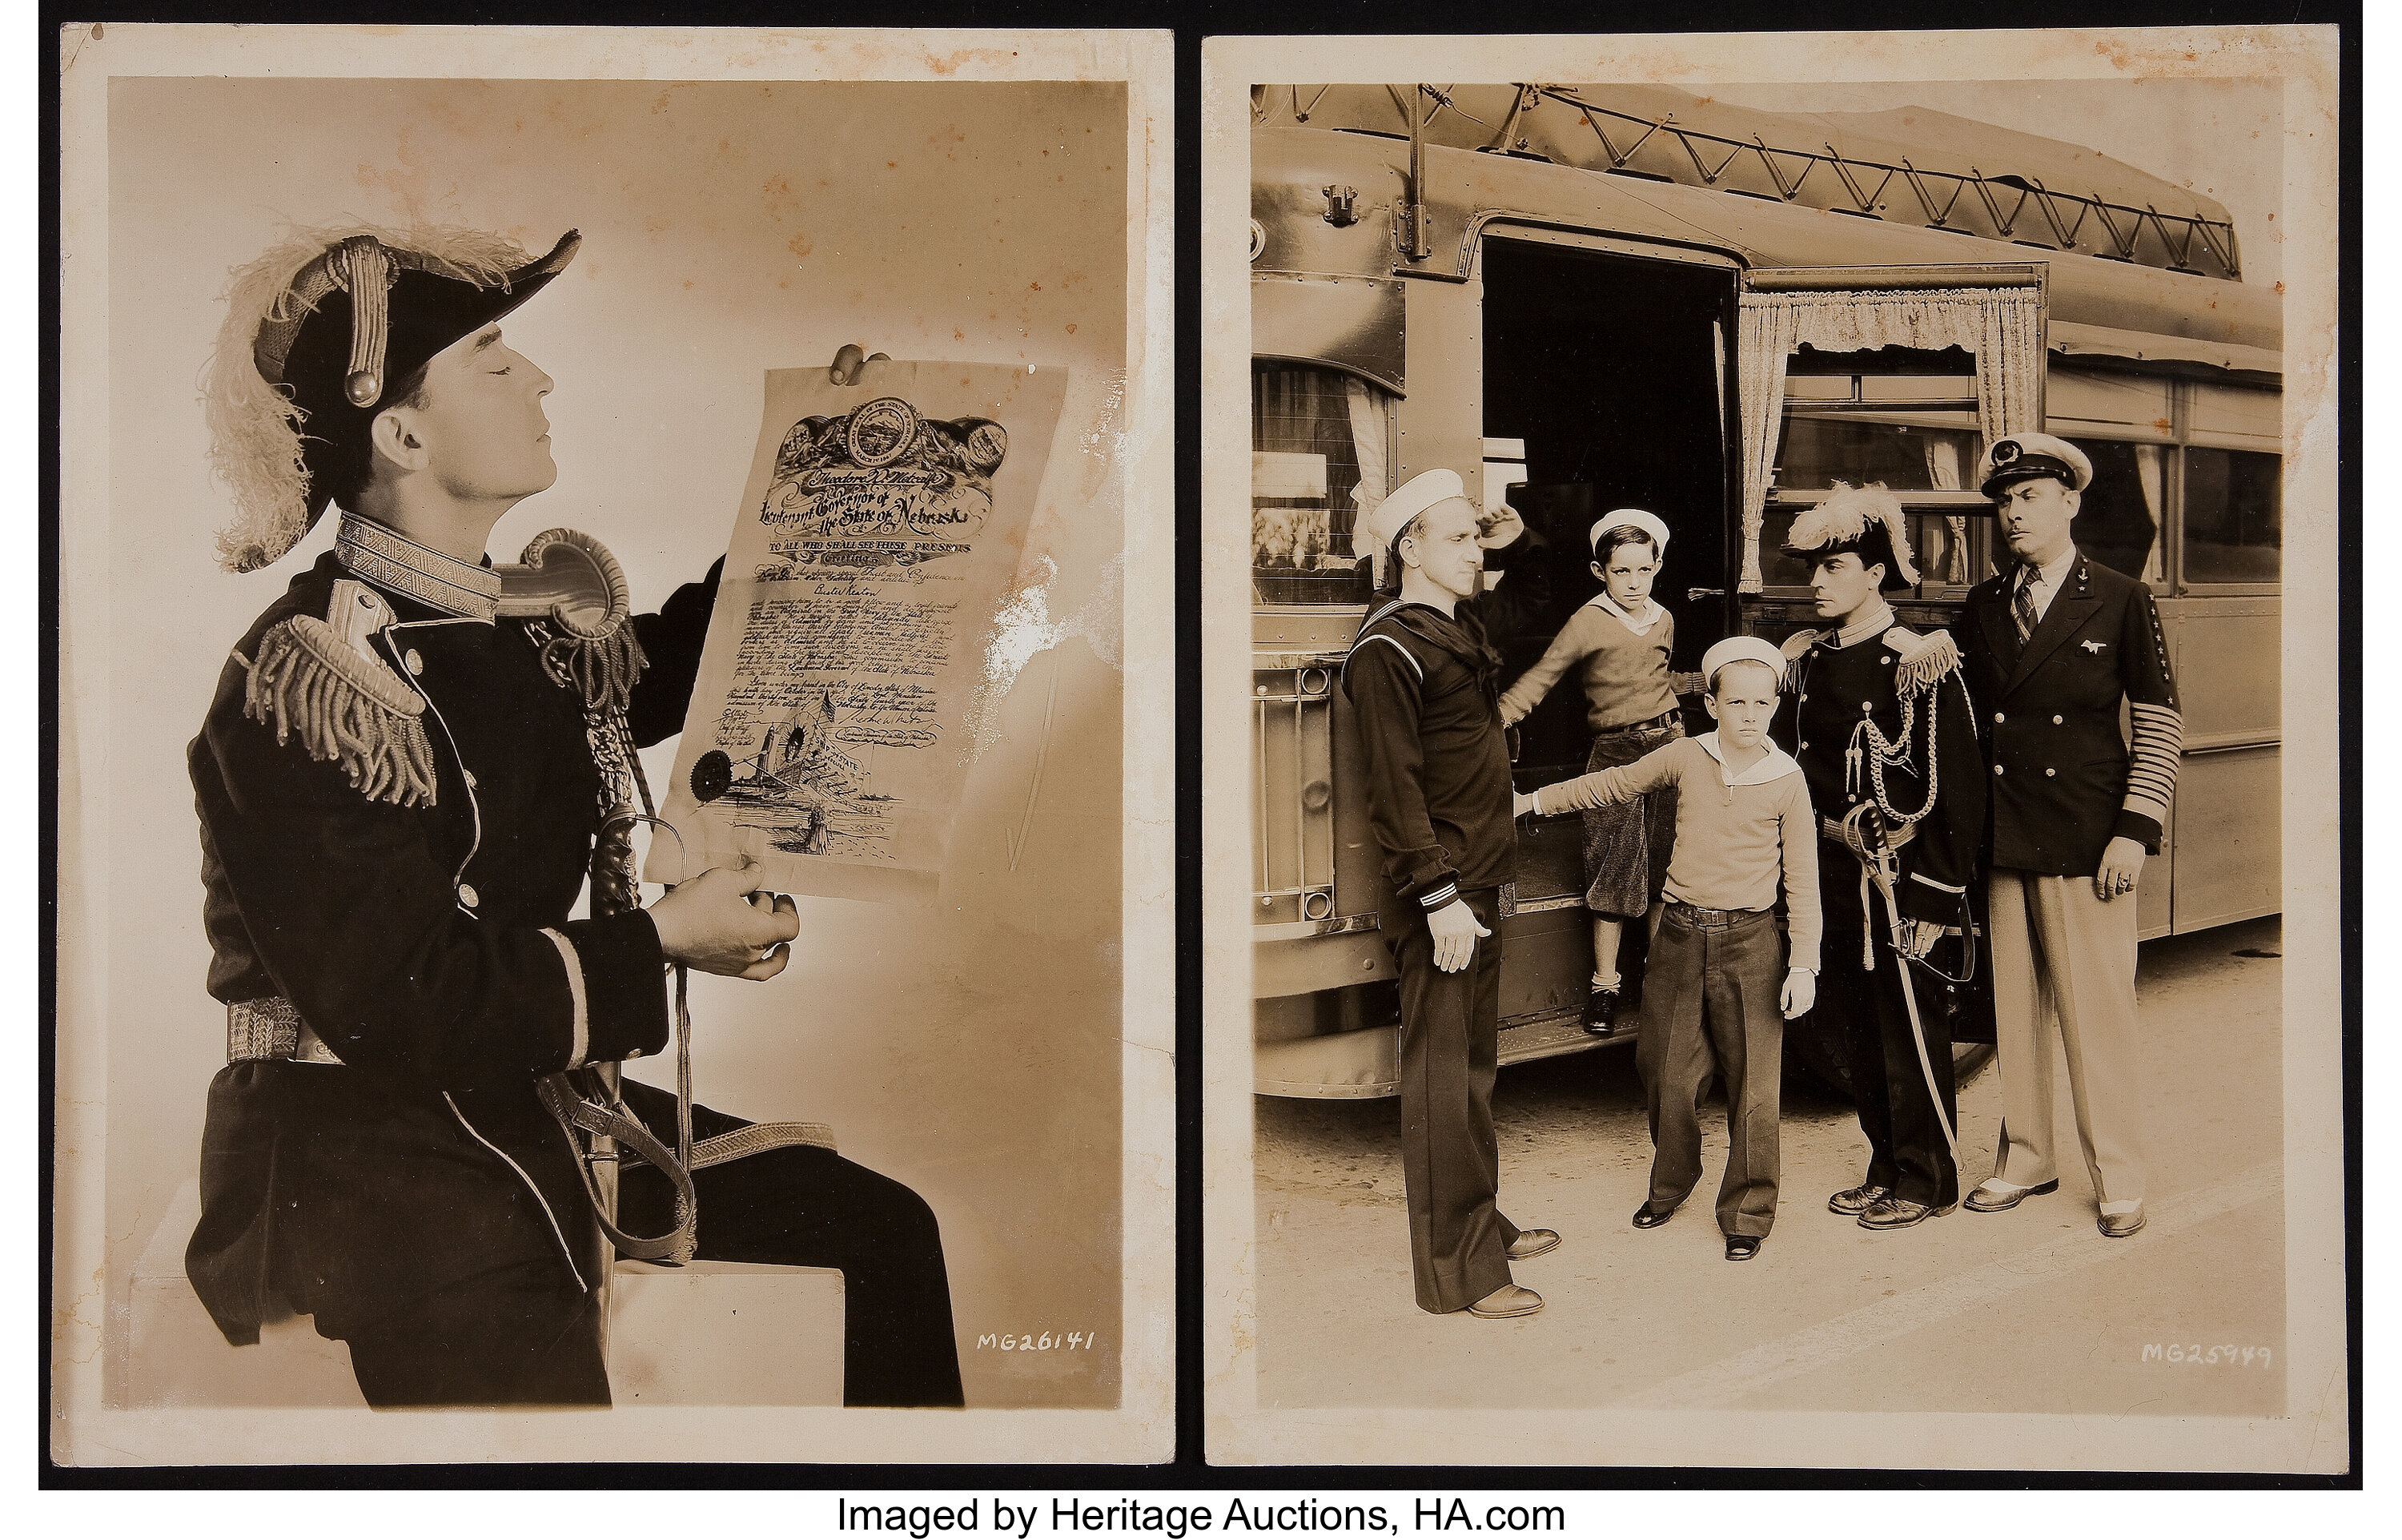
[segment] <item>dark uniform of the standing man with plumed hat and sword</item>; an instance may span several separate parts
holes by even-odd
[[[1842,1021],[1852,1103],[1869,1136],[1866,1187],[1929,1208],[1960,1199],[1946,1122],[1958,1129],[1950,1028],[1938,992],[1917,973],[1926,1064],[1910,1031],[1890,918],[1866,891],[1864,865],[1840,822],[1864,802],[1919,814],[1895,831],[1902,915],[1962,923],[1984,829],[1984,766],[1948,634],[1895,625],[1890,610],[1852,629],[1797,632],[1773,735],[1802,762],[1821,819],[1818,899],[1826,918],[1818,1007]],[[1883,747],[1881,747],[1883,745]],[[1929,1096],[1926,1072],[1941,1093]]]

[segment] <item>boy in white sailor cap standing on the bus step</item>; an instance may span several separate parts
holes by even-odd
[[[1501,726],[1525,721],[1576,668],[1585,687],[1585,728],[1593,733],[1585,769],[1597,771],[1633,764],[1684,738],[1684,711],[1677,709],[1669,675],[1677,617],[1650,596],[1667,555],[1667,521],[1641,507],[1612,509],[1593,521],[1588,543],[1602,591],[1569,615],[1542,658],[1501,694]],[[1619,932],[1645,915],[1655,918],[1674,843],[1674,790],[1585,812],[1593,985],[1583,1021],[1595,1038],[1612,1035],[1621,1004],[1636,1002],[1633,980],[1619,978]]]

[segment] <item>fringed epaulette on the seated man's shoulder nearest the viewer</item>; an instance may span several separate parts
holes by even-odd
[[[243,716],[300,738],[310,759],[331,759],[370,802],[435,805],[435,750],[425,738],[425,697],[365,649],[392,610],[372,589],[334,584],[327,620],[293,615],[259,637]]]

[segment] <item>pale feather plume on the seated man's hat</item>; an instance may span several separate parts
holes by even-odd
[[[209,420],[209,468],[233,495],[233,521],[216,533],[226,572],[255,572],[291,550],[310,526],[310,473],[300,459],[307,423],[286,392],[259,375],[252,348],[267,322],[293,322],[293,279],[351,235],[375,235],[387,247],[420,252],[447,276],[490,286],[521,269],[526,252],[488,231],[368,223],[293,228],[257,262],[233,269],[226,320],[202,375],[199,399]]]

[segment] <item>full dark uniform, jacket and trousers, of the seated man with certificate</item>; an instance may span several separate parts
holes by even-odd
[[[682,728],[716,579],[632,617],[639,742]],[[372,1405],[608,1403],[610,1247],[536,1081],[668,1043],[649,913],[569,918],[603,831],[586,699],[490,593],[488,567],[346,519],[233,649],[190,747],[231,1062],[187,1271],[231,1343],[315,1317]],[[675,1098],[622,1096],[673,1146]],[[697,1139],[742,1127],[694,1108]],[[809,1146],[694,1182],[699,1257],[846,1271],[848,1403],[958,1403],[918,1194]],[[629,1165],[625,1230],[670,1211]]]

